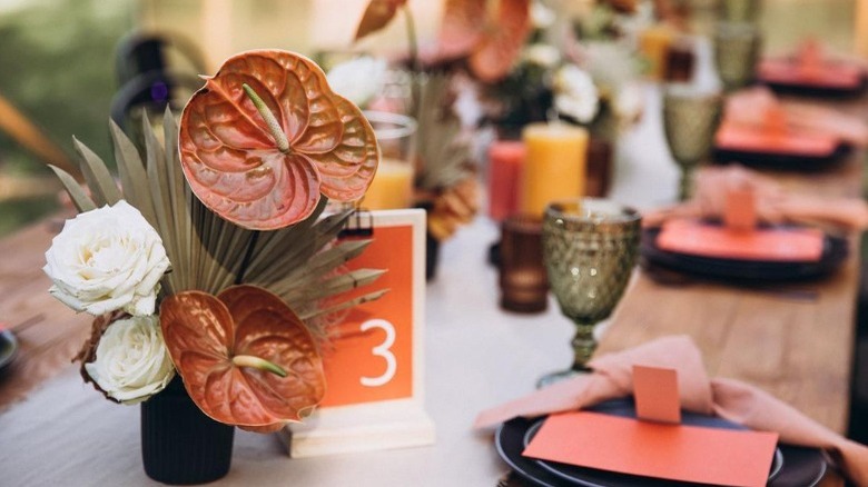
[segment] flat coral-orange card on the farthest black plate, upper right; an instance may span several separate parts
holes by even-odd
[[[819,68],[806,69],[803,63],[790,59],[766,59],[759,63],[757,72],[761,80],[781,85],[854,89],[862,82],[859,67],[840,62],[823,62]]]

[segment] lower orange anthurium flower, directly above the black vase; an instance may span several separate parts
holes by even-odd
[[[325,375],[313,336],[265,289],[179,292],[162,301],[160,327],[187,392],[217,421],[276,431],[323,399]]]

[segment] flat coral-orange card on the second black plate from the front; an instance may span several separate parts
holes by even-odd
[[[663,223],[657,246],[670,252],[743,260],[810,262],[822,257],[823,233],[816,228],[758,228],[731,231],[691,219]]]

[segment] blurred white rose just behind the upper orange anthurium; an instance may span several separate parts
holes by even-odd
[[[363,107],[383,90],[386,61],[363,56],[335,66],[327,78],[334,92]]]

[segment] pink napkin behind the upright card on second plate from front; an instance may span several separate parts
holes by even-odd
[[[766,223],[805,223],[835,230],[868,229],[868,203],[856,198],[788,193],[775,180],[738,165],[701,168],[691,200],[642,215],[642,225],[659,227],[669,218],[723,219],[727,195],[753,191],[757,218]]]

